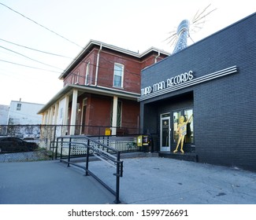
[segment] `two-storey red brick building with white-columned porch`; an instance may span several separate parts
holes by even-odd
[[[62,134],[105,134],[105,128],[135,134],[140,72],[168,56],[153,47],[135,53],[91,40],[60,75],[63,89],[39,111],[43,124],[69,125]]]

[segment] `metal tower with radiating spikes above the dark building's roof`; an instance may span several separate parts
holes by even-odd
[[[165,41],[169,40],[168,43],[171,44],[171,46],[174,46],[173,53],[177,53],[187,47],[187,38],[191,38],[190,32],[195,33],[202,29],[202,25],[206,22],[206,16],[216,10],[212,9],[210,12],[207,12],[209,7],[210,5],[203,9],[202,12],[199,12],[198,10],[191,22],[189,20],[182,20],[176,31],[169,32],[171,35],[169,38],[166,38]],[[194,43],[192,38],[191,41]]]

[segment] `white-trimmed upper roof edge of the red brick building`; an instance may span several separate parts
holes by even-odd
[[[76,56],[76,58],[69,64],[69,66],[65,69],[65,71],[63,73],[61,73],[61,75],[59,76],[59,79],[65,78],[65,76],[68,75],[69,72],[72,71],[72,69],[75,68],[76,65],[78,65],[80,63],[80,61],[82,61],[83,58],[86,57],[87,54],[91,52],[91,49],[93,49],[95,46],[106,48],[106,49],[112,49],[112,50],[117,51],[119,53],[124,53],[124,54],[132,56],[132,57],[137,57],[139,59],[146,56],[148,53],[151,53],[151,52],[157,52],[157,53],[165,54],[166,56],[169,56],[171,54],[169,52],[166,52],[165,50],[158,49],[158,48],[155,48],[155,47],[150,47],[150,49],[147,49],[143,53],[136,53],[136,52],[133,52],[133,51],[128,50],[128,49],[123,49],[123,48],[118,47],[118,46],[113,46],[113,45],[110,45],[110,44],[106,44],[105,42],[91,40],[90,42],[87,43],[87,46],[85,46],[80,51],[80,53]]]

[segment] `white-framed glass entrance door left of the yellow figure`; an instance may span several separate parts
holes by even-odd
[[[169,114],[161,115],[161,144],[160,151],[170,151],[170,116]]]

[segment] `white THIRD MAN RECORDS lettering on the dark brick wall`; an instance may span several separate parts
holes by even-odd
[[[159,90],[163,90],[165,88],[169,88],[172,86],[179,85],[180,83],[185,83],[191,79],[194,79],[194,75],[192,71],[184,72],[180,75],[176,75],[175,77],[169,78],[165,81],[161,81],[160,83],[155,83],[153,88],[151,86],[147,86],[146,88],[141,90],[141,95],[147,95],[150,93],[157,92]]]

